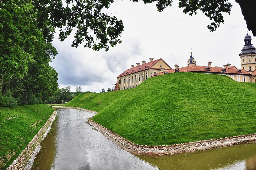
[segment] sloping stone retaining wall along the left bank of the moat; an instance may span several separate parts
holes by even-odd
[[[17,170],[23,169],[27,162],[29,161],[30,157],[33,155],[35,148],[40,144],[41,140],[44,137],[46,130],[52,123],[52,119],[55,117],[57,111],[55,110],[51,117],[47,120],[46,124],[38,131],[38,133],[33,137],[33,139],[29,142],[26,148],[19,154],[16,160],[6,168],[6,170]]]

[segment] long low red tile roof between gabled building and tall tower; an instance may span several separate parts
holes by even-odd
[[[206,69],[208,68],[208,66],[186,66],[186,67],[181,67],[179,68],[179,72],[203,72],[203,73],[219,73],[221,74],[221,69],[226,69],[226,72],[222,71],[223,74],[247,74],[250,75],[250,73],[248,73],[247,71],[243,70],[243,69],[236,69],[236,68],[224,68],[224,67],[209,67],[210,71],[207,71]],[[241,70],[241,73],[239,73],[238,71]],[[168,73],[172,73],[175,72],[175,70],[169,70]],[[164,74],[164,72],[160,72],[160,73],[156,73],[159,75]],[[255,73],[256,74],[256,73]]]

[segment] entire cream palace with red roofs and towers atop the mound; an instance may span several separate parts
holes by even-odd
[[[181,68],[179,68],[178,64],[175,64],[174,69],[172,69],[161,58],[155,61],[153,58],[150,58],[150,62],[145,63],[145,61],[142,61],[142,65],[136,63],[136,67],[131,65],[132,68],[117,76],[115,91],[135,88],[149,77],[174,72],[221,74],[238,82],[256,82],[256,48],[252,46],[253,44],[251,40],[252,38],[248,34],[244,38],[244,47],[239,54],[241,59],[241,69],[238,69],[236,66],[231,66],[229,63],[223,65],[223,67],[212,67],[210,61],[207,63],[207,66],[197,66],[196,61],[192,56],[192,52],[190,52],[188,66]]]

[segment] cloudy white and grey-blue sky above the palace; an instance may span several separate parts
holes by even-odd
[[[196,65],[223,67],[224,64],[240,66],[240,56],[247,34],[246,21],[243,19],[241,8],[235,0],[229,1],[233,6],[230,15],[224,14],[224,24],[215,32],[210,32],[207,25],[211,20],[204,13],[198,11],[195,16],[182,13],[178,8],[178,0],[174,0],[171,7],[159,12],[155,3],[144,5],[128,0],[117,0],[106,12],[113,13],[117,19],[122,19],[124,31],[117,44],[109,51],[71,47],[74,39],[69,36],[61,42],[58,32],[54,35],[53,46],[58,55],[50,65],[55,68],[59,88],[81,86],[82,91],[99,93],[112,89],[112,83],[117,82],[117,76],[125,70],[149,58],[162,58],[174,69],[187,66],[190,51],[196,60]],[[256,38],[252,37],[252,43]],[[84,42],[85,43],[85,42]],[[191,50],[192,48],[192,50]]]

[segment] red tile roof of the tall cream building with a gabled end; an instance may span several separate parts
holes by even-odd
[[[139,65],[139,66],[136,66],[136,67],[133,67],[133,68],[129,68],[127,70],[125,70],[123,73],[121,73],[119,76],[117,77],[122,77],[122,76],[125,76],[125,75],[128,75],[128,74],[131,74],[131,73],[135,73],[135,72],[140,72],[142,70],[147,70],[147,69],[150,69],[152,68],[152,66],[155,65],[155,63],[157,63],[158,61],[160,61],[163,59],[157,59],[157,60],[154,60],[154,61],[151,61],[151,62],[147,62],[145,64],[142,64],[142,65]],[[163,61],[167,66],[169,66],[165,61]],[[169,66],[170,67],[170,66]],[[171,67],[170,67],[171,68]],[[156,69],[159,69],[159,68],[156,68]],[[166,69],[165,70],[170,70],[170,69]]]

